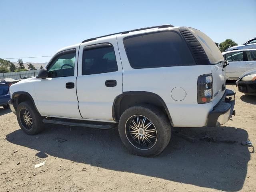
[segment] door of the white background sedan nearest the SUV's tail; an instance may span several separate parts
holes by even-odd
[[[239,78],[246,71],[246,61],[244,52],[231,52],[225,55],[229,65],[226,66],[226,76],[230,78]]]

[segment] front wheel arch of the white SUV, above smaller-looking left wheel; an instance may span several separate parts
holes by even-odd
[[[20,104],[21,102],[24,102],[24,101],[31,101],[34,105],[34,108],[38,112],[38,110],[36,108],[36,104],[34,102],[34,99],[28,92],[17,91],[12,94],[12,103],[13,103],[13,107],[15,110],[17,110],[18,104]]]

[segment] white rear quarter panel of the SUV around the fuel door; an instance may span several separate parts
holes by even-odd
[[[213,106],[212,102],[197,103],[197,78],[202,74],[211,73],[211,67],[201,65],[133,69],[126,56],[122,39],[118,38],[118,47],[124,69],[123,91],[147,91],[159,95],[168,107],[173,126],[205,126]],[[185,90],[184,100],[176,101],[172,98],[171,91],[175,87]]]

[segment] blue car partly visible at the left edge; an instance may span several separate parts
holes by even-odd
[[[0,106],[4,107],[5,109],[9,108],[8,101],[10,100],[10,92],[9,87],[18,82],[14,79],[0,79]]]

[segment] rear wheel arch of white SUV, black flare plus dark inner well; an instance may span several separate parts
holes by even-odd
[[[122,113],[127,108],[138,104],[150,104],[161,108],[161,110],[168,116],[171,125],[173,125],[172,118],[164,100],[158,94],[146,91],[128,91],[118,95],[114,99],[112,106],[112,116],[114,121],[118,122]]]

